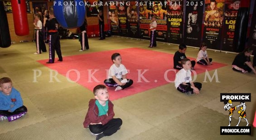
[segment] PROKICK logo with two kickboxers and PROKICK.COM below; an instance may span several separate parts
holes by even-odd
[[[251,102],[251,93],[221,93],[225,111],[228,111],[228,126],[221,126],[221,135],[251,135],[251,126],[246,118],[246,102]],[[238,102],[238,103],[234,103]],[[237,104],[233,106],[233,104]],[[237,111],[239,120],[236,126],[231,126],[232,115]],[[239,126],[241,120],[246,121],[246,126]],[[237,127],[239,126],[239,127]]]

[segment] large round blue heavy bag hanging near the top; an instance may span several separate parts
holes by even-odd
[[[63,28],[77,28],[82,26],[85,18],[83,0],[55,0],[53,12],[58,23]]]

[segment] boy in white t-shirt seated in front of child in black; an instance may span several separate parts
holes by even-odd
[[[192,81],[191,76],[191,61],[188,58],[184,58],[181,60],[181,65],[183,69],[179,70],[175,76],[175,88],[182,93],[186,93],[191,95],[193,93],[199,94],[199,90],[202,88],[202,84]]]

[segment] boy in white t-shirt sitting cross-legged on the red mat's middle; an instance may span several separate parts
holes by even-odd
[[[114,64],[109,68],[108,79],[104,80],[106,86],[117,86],[115,91],[130,87],[133,84],[133,80],[126,79],[128,71],[126,70],[125,65],[121,64],[121,55],[119,53],[114,53],[111,56],[111,60]]]

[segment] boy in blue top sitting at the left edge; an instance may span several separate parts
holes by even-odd
[[[18,90],[12,87],[8,77],[0,79],[0,121],[14,121],[27,113]]]

